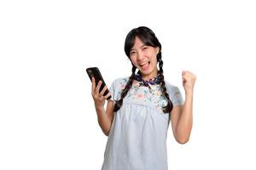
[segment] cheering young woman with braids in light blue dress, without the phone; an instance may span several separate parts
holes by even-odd
[[[166,170],[169,123],[178,143],[189,141],[195,75],[182,72],[183,101],[179,88],[166,82],[161,44],[145,26],[128,33],[125,54],[131,60],[131,77],[116,79],[105,96],[107,87],[99,92],[102,82],[92,80],[98,122],[108,136],[102,170]]]

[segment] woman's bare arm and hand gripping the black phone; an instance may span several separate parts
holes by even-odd
[[[110,127],[113,122],[113,101],[108,99],[108,96],[111,95],[110,92],[103,96],[104,92],[107,90],[107,86],[105,86],[101,92],[100,87],[102,85],[102,81],[98,82],[96,86],[95,79],[92,78],[92,87],[91,87],[91,95],[94,99],[94,104],[96,108],[96,114],[98,117],[98,123],[102,128],[102,132],[108,136]],[[104,109],[105,100],[108,99],[107,110]]]

